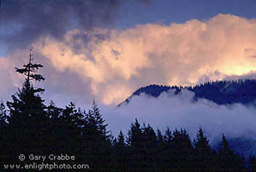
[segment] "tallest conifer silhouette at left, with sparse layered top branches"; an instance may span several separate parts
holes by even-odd
[[[10,136],[7,138],[10,144],[7,147],[7,155],[17,160],[19,154],[45,152],[46,125],[48,120],[46,116],[46,106],[44,100],[39,96],[44,89],[34,88],[32,81],[40,82],[45,80],[40,74],[36,74],[41,64],[31,63],[31,51],[29,52],[29,63],[23,65],[23,68],[15,68],[20,74],[26,76],[25,82],[18,93],[12,95],[12,102],[7,101],[10,110],[8,117]]]

